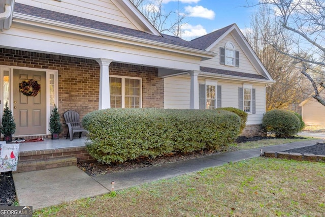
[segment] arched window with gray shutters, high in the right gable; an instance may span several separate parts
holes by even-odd
[[[226,66],[239,67],[239,51],[231,42],[227,42],[224,47],[220,47],[220,64]]]

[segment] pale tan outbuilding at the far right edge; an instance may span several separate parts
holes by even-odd
[[[319,88],[319,95],[325,98],[324,88]],[[321,105],[314,98],[308,98],[301,104],[301,116],[306,126],[325,127],[325,106]]]

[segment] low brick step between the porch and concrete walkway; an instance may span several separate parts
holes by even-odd
[[[15,173],[76,165],[76,157],[57,157],[52,159],[24,160],[18,161],[17,171],[15,171]]]

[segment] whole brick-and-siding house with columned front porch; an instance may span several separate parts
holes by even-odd
[[[160,34],[128,0],[0,0],[0,29],[0,100],[15,137],[47,137],[54,104],[81,117],[232,106],[252,132],[274,82],[236,24],[187,42]]]

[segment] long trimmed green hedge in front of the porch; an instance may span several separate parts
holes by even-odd
[[[89,131],[88,152],[111,164],[218,149],[235,141],[240,117],[214,110],[106,109],[85,115],[83,126]]]

